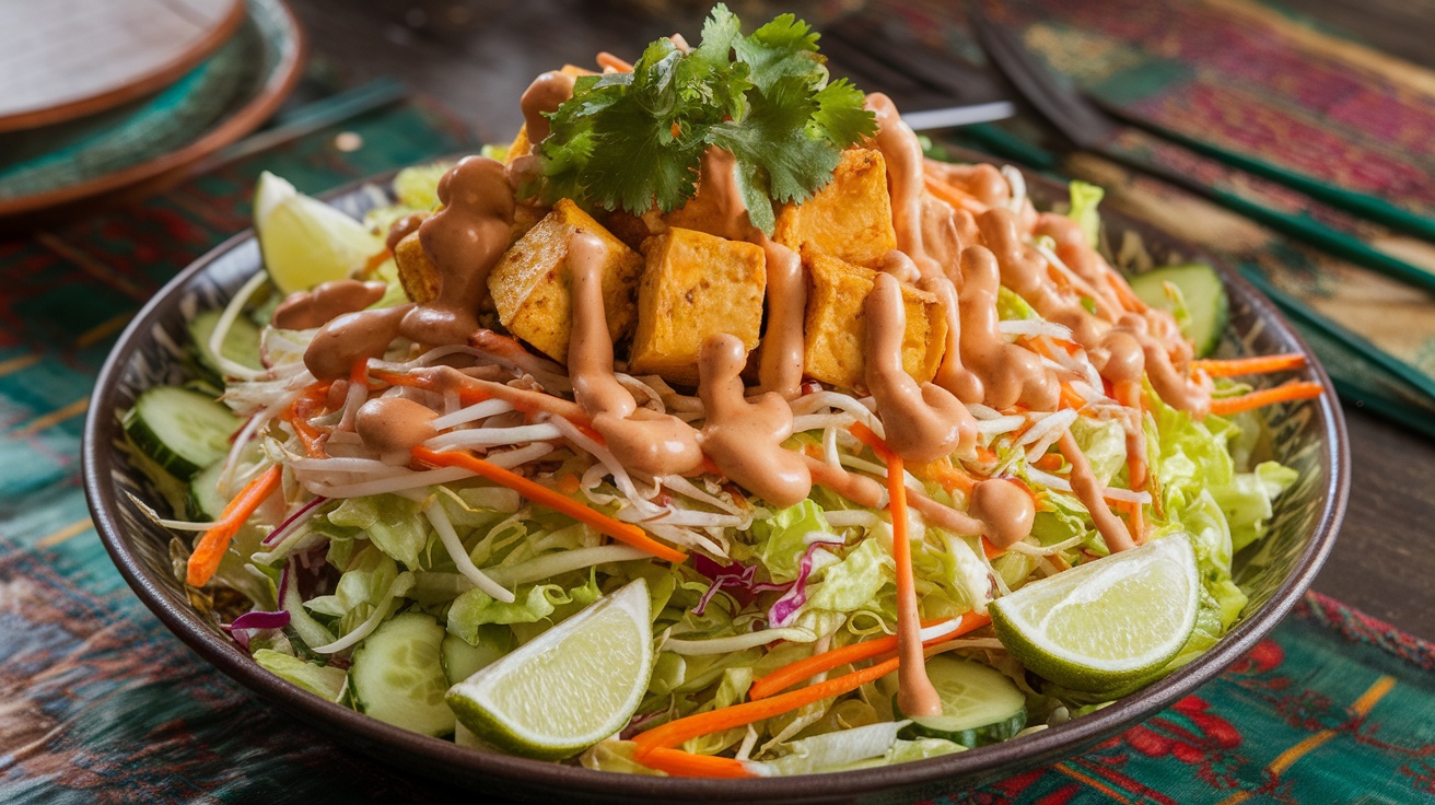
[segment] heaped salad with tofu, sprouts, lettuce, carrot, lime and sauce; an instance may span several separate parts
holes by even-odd
[[[356,221],[264,175],[265,271],[123,412],[191,600],[369,716],[594,769],[795,775],[1078,717],[1240,617],[1300,356],[1207,357],[1101,189],[926,156],[818,34],[598,56]]]

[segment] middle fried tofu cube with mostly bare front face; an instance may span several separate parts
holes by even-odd
[[[667,230],[649,241],[629,370],[696,385],[697,353],[707,336],[738,336],[748,352],[758,346],[766,290],[762,247]]]

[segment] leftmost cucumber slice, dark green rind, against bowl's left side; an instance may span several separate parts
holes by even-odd
[[[189,481],[230,452],[240,418],[198,392],[155,386],[139,395],[123,428],[141,452],[175,478]]]

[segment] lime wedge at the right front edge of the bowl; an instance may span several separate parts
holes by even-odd
[[[1159,672],[1195,626],[1201,580],[1185,534],[1152,540],[997,598],[997,639],[1073,690],[1112,690]]]

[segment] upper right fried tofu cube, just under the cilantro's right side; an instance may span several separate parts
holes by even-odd
[[[847,263],[881,265],[883,257],[897,248],[881,152],[844,151],[827,187],[804,204],[782,208],[773,240],[794,251],[806,244]]]

